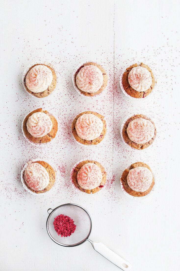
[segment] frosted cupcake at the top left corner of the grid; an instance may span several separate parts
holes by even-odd
[[[29,94],[37,98],[44,98],[53,92],[57,78],[52,67],[45,64],[35,64],[26,70],[22,80],[23,86]]]

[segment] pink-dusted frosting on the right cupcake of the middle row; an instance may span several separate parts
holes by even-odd
[[[132,120],[127,127],[128,137],[137,144],[149,142],[154,137],[154,133],[154,125],[150,120],[144,118]]]

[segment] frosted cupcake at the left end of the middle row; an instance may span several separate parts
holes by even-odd
[[[24,137],[33,143],[47,143],[56,136],[57,120],[46,110],[38,108],[25,116],[22,132]]]

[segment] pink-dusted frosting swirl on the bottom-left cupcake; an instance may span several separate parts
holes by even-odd
[[[31,163],[25,169],[24,179],[31,189],[40,191],[48,185],[49,174],[41,164]]]

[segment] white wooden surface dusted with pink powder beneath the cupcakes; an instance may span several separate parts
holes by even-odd
[[[64,248],[47,235],[47,209],[72,202],[93,219],[91,238],[129,260],[133,271],[178,270],[179,266],[179,1],[1,1],[1,245],[2,271],[118,270],[86,242]],[[49,61],[58,85],[35,99],[22,86],[33,61]],[[81,97],[72,85],[73,69],[94,60],[109,70],[108,90]],[[130,100],[119,76],[134,63],[148,64],[157,79],[145,99]],[[59,123],[57,138],[32,146],[22,135],[24,115],[43,107]],[[81,147],[70,125],[80,112],[103,114],[109,130],[95,147]],[[126,147],[122,120],[133,113],[151,117],[157,138],[146,150]],[[20,180],[33,158],[56,164],[59,178],[47,195],[33,196]],[[94,159],[107,171],[107,185],[95,195],[73,190],[72,166]],[[147,163],[155,191],[146,199],[127,198],[120,176],[131,163]]]

